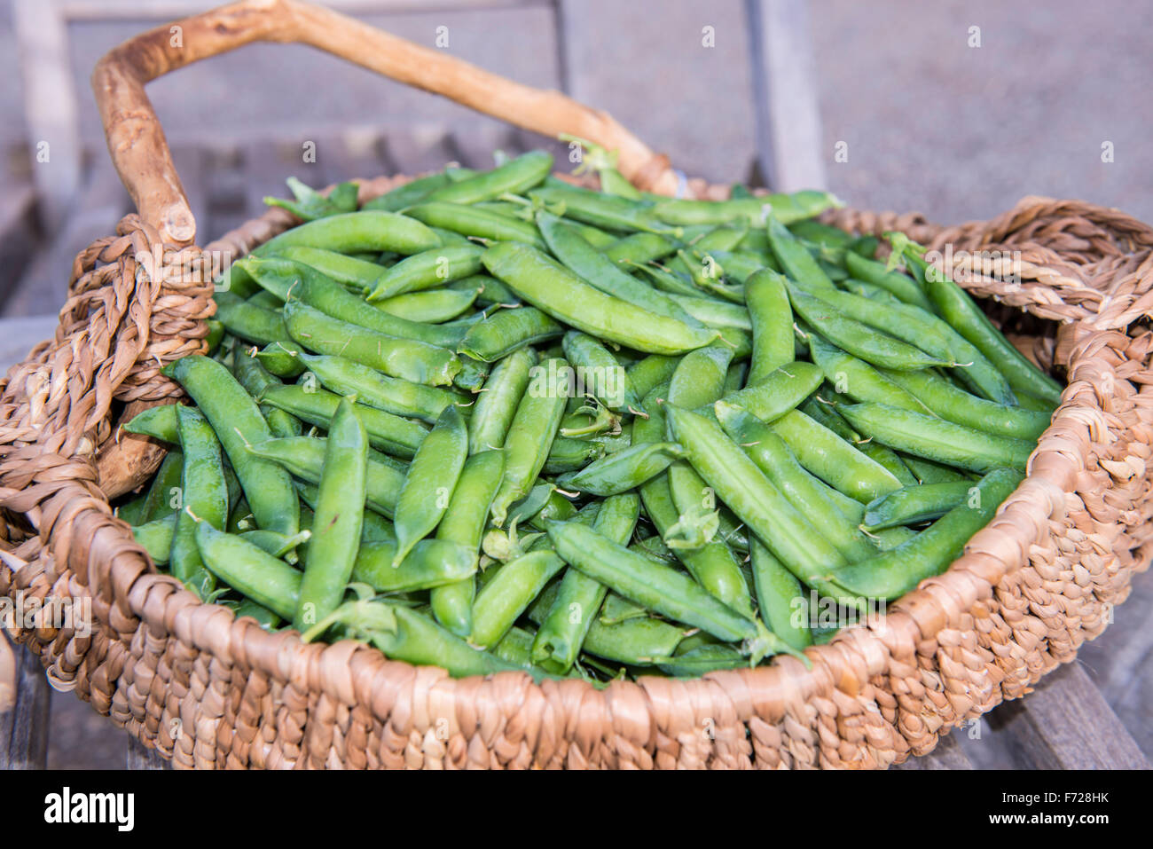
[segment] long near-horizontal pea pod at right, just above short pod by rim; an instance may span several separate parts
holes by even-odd
[[[994,436],[884,404],[850,404],[839,412],[854,428],[889,448],[970,472],[998,466],[1024,469],[1037,448],[1028,439]]]

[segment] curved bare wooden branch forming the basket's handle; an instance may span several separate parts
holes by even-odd
[[[172,27],[181,28],[180,39],[174,38]],[[182,46],[173,46],[174,40]],[[552,137],[571,133],[617,150],[618,167],[627,179],[666,194],[676,187],[663,157],[655,158],[609,114],[558,91],[514,83],[321,6],[242,0],[136,36],[108,52],[92,72],[112,161],[141,217],[168,241],[191,242],[196,221],[144,84],[253,42],[309,44],[518,127]]]

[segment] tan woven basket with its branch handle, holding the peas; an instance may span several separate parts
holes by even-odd
[[[204,347],[213,309],[204,251],[243,254],[295,221],[271,210],[204,251],[191,247],[195,223],[144,82],[254,40],[302,42],[522,127],[616,148],[642,188],[671,194],[678,181],[603,113],[322,8],[247,2],[180,25],[182,50],[161,27],[98,65],[108,146],[140,215],[76,257],[55,338],[0,381],[0,593],[89,598],[95,619],[89,637],[13,636],[54,686],[75,689],[176,766],[883,768],[1073,660],[1148,566],[1153,228],[1031,197],[952,228],[914,215],[828,216],[937,248],[1019,250],[1019,284],[965,285],[1004,305],[988,306],[1069,385],[1028,478],[965,555],[888,616],[809,648],[812,669],[781,658],[604,690],[519,673],[457,681],[351,641],[304,645],[199,603],[157,574],[112,516],[108,499],[140,486],[163,453],[118,426],[179,397],[160,366]],[[361,197],[402,179],[364,182]],[[688,189],[723,194],[699,181]]]

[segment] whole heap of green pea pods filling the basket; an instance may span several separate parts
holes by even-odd
[[[120,504],[204,601],[454,676],[801,658],[948,568],[1061,386],[821,191],[672,200],[530,152],[302,223],[217,283]]]

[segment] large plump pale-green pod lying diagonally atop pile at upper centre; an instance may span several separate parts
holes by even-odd
[[[484,253],[484,265],[526,301],[600,339],[636,351],[678,354],[707,345],[715,333],[653,315],[589,286],[548,255],[503,242]]]

